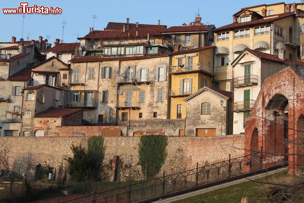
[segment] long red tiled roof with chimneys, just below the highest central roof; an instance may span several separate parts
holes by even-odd
[[[148,33],[150,33],[150,35],[152,36],[161,35],[162,30],[164,29],[137,29],[137,30],[126,30],[126,32],[123,32],[123,30],[109,30],[109,31],[94,30],[93,33],[88,33],[85,37],[79,37],[78,39],[129,37],[128,36],[129,32],[130,32],[130,37],[147,37]],[[137,36],[136,36],[136,31],[138,31]]]

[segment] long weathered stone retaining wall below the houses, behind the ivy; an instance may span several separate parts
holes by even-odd
[[[65,163],[64,156],[71,156],[71,144],[86,145],[88,137],[0,137],[0,142],[12,145],[11,156],[19,160],[20,172],[27,163],[41,163],[53,167]],[[140,137],[105,137],[105,171],[111,171],[112,159],[119,156],[118,177],[120,180],[143,179],[138,162]],[[161,171],[173,173],[206,162],[244,154],[244,135],[216,137],[169,137],[168,157]],[[162,172],[161,172],[162,174]]]

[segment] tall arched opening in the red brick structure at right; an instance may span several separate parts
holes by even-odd
[[[288,99],[275,94],[265,107],[264,168],[288,161]]]

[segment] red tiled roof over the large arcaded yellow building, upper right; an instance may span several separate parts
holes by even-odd
[[[275,20],[278,20],[278,19],[282,19],[282,18],[286,18],[286,17],[289,17],[289,16],[294,16],[294,15],[295,15],[295,13],[284,13],[284,14],[280,14],[277,17],[274,17],[274,18],[266,18],[266,19],[262,18],[262,19],[252,20],[252,21],[248,21],[248,22],[244,22],[244,23],[231,23],[229,25],[225,25],[225,26],[213,29],[213,31],[225,30],[225,29],[248,26],[248,25],[254,25],[254,24],[259,24],[259,23],[267,23],[267,22],[272,22],[272,21],[275,21]]]

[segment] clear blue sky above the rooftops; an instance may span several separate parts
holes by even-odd
[[[26,1],[22,1],[26,2]],[[162,25],[180,26],[183,23],[194,21],[195,13],[198,12],[202,17],[202,23],[214,24],[220,27],[232,23],[232,15],[241,8],[281,2],[280,0],[268,1],[71,1],[71,0],[48,0],[32,1],[29,6],[37,4],[46,7],[60,7],[63,13],[60,15],[26,15],[24,19],[23,38],[26,40],[28,33],[31,40],[38,40],[41,35],[46,39],[50,35],[50,43],[55,39],[62,38],[62,21],[66,21],[64,28],[64,42],[76,42],[77,34],[79,37],[85,36],[89,32],[89,27],[93,26],[92,15],[97,15],[95,19],[95,30],[103,30],[108,22],[126,22],[130,18],[130,23],[157,24],[161,20]],[[187,3],[188,2],[188,3]],[[294,1],[301,2],[301,1]],[[1,0],[0,8],[0,41],[11,41],[12,36],[17,40],[22,33],[22,15],[4,15],[2,8],[17,8],[20,1]],[[292,3],[292,2],[286,2]]]

